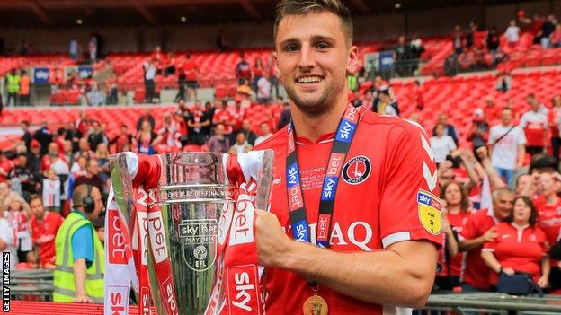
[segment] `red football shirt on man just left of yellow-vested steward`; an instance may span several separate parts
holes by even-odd
[[[55,263],[55,236],[64,219],[60,214],[46,211],[43,221],[38,221],[33,215],[31,218],[31,238],[33,243],[39,245],[40,264]]]

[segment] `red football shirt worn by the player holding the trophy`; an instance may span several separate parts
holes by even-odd
[[[432,153],[427,152],[426,135],[420,127],[402,118],[361,110],[360,119],[346,160],[338,166],[343,169],[334,200],[331,249],[373,251],[409,240],[429,240],[440,247],[440,199],[435,197],[436,178],[428,175],[434,174],[436,167]],[[321,136],[316,142],[296,137],[311,241],[316,240],[319,197],[333,140],[334,134]],[[287,200],[287,141],[284,127],[256,149],[275,152],[271,211],[292,238]],[[427,209],[436,214],[432,223],[430,218],[421,222]],[[268,268],[266,273],[267,312],[301,313],[302,305],[312,295],[306,279],[279,268]],[[396,311],[395,307],[362,302],[324,285],[320,285],[318,293],[325,298],[332,314]]]

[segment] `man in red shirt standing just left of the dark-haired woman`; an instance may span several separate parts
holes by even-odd
[[[514,194],[509,188],[497,188],[493,192],[493,208],[481,209],[467,218],[459,235],[459,250],[467,251],[466,267],[462,278],[464,292],[488,291],[490,269],[481,258],[486,241],[496,237],[495,225],[512,214]]]

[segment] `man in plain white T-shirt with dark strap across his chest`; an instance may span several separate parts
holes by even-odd
[[[520,127],[512,126],[512,109],[501,112],[501,125],[491,127],[489,145],[491,162],[504,182],[511,186],[514,174],[524,165],[526,136]]]

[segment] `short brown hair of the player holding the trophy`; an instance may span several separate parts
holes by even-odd
[[[277,5],[274,23],[274,38],[282,19],[289,15],[306,15],[307,13],[321,13],[323,11],[334,13],[341,20],[347,45],[352,44],[352,19],[351,11],[340,0],[281,0]]]

